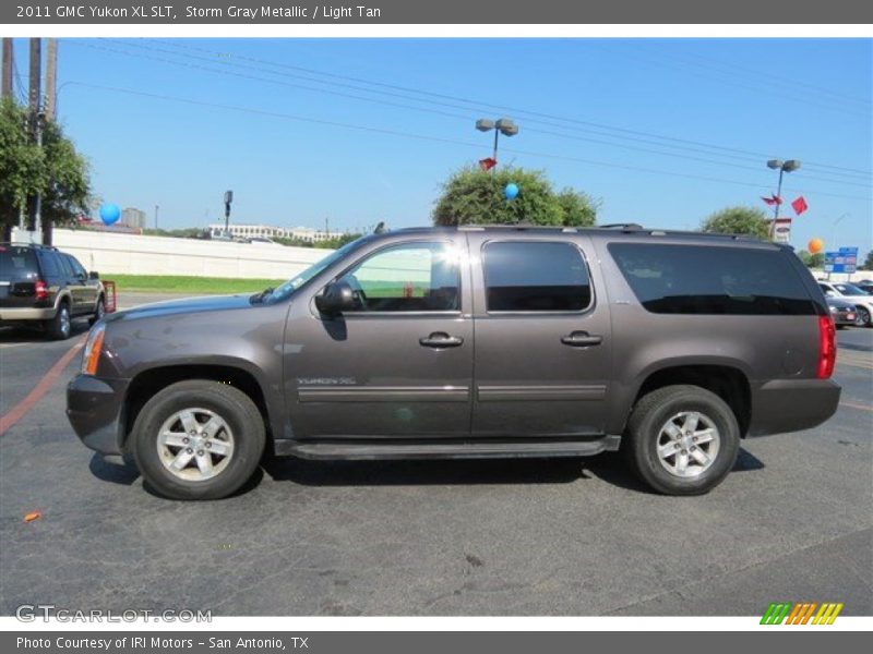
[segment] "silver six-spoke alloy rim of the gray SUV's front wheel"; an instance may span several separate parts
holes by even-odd
[[[208,409],[182,409],[160,426],[157,455],[174,476],[202,482],[220,474],[234,457],[234,433]]]

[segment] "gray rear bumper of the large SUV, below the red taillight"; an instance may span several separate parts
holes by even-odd
[[[811,429],[837,412],[841,389],[832,379],[774,379],[752,389],[749,436]]]

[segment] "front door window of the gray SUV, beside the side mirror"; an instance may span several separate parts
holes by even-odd
[[[449,243],[404,243],[370,255],[342,280],[358,312],[458,311],[459,263]]]

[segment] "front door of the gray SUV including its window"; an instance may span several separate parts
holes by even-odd
[[[292,302],[285,388],[295,437],[469,435],[473,320],[456,234],[375,246],[333,277],[356,306],[330,318]],[[322,284],[323,287],[324,284]]]

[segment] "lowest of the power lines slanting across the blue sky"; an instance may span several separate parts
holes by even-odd
[[[285,112],[280,112],[280,111],[256,109],[256,108],[252,108],[252,107],[240,107],[240,106],[237,106],[237,105],[226,105],[226,104],[206,101],[206,100],[199,100],[199,99],[193,99],[193,98],[182,98],[182,97],[170,96],[170,95],[166,95],[166,94],[148,93],[148,92],[143,92],[143,90],[134,90],[134,89],[130,89],[130,88],[120,88],[120,87],[116,87],[116,86],[104,86],[104,85],[91,84],[91,83],[85,83],[85,82],[69,82],[68,81],[67,84],[75,85],[75,86],[83,86],[83,87],[86,87],[86,88],[94,88],[94,89],[98,89],[98,90],[108,90],[108,92],[113,92],[113,93],[121,93],[121,94],[127,94],[127,95],[147,97],[147,98],[153,98],[153,99],[182,102],[182,104],[194,105],[194,106],[199,106],[199,107],[212,107],[212,108],[225,109],[225,110],[230,110],[230,111],[240,111],[240,112],[253,113],[253,114],[258,114],[258,116],[266,116],[266,117],[271,117],[271,118],[280,118],[280,119],[294,120],[294,121],[299,121],[299,122],[321,124],[321,125],[331,126],[331,128],[343,128],[343,129],[348,129],[348,130],[357,130],[357,131],[370,132],[370,133],[374,133],[374,134],[399,136],[399,137],[405,137],[405,138],[415,138],[417,141],[427,141],[427,142],[442,143],[442,144],[449,144],[449,145],[461,145],[461,146],[465,146],[465,147],[481,149],[481,144],[480,143],[471,143],[471,142],[459,141],[459,140],[455,140],[455,138],[442,138],[442,137],[439,137],[439,136],[428,136],[428,135],[424,135],[424,134],[416,134],[416,133],[412,133],[412,132],[400,132],[400,131],[397,131],[397,130],[387,130],[387,129],[374,128],[374,126],[370,126],[370,125],[361,125],[361,124],[355,124],[355,123],[348,123],[348,122],[325,120],[325,119],[312,118],[312,117],[300,116],[300,114],[295,114],[295,113],[285,113]],[[587,165],[597,166],[597,167],[615,168],[615,169],[621,169],[621,170],[632,170],[632,171],[635,171],[635,172],[646,172],[646,173],[660,174],[660,175],[667,175],[667,177],[678,177],[678,178],[685,178],[685,179],[693,179],[693,180],[719,182],[719,183],[725,183],[725,184],[733,184],[733,185],[754,187],[754,189],[757,189],[760,191],[761,190],[766,190],[768,187],[766,184],[760,184],[760,183],[755,183],[755,182],[742,182],[742,181],[738,181],[738,180],[727,180],[727,179],[722,179],[722,178],[713,178],[713,177],[699,175],[699,174],[694,174],[694,173],[665,171],[665,170],[659,170],[659,169],[654,169],[654,168],[644,168],[644,167],[637,167],[637,166],[624,166],[624,165],[614,164],[614,162],[611,162],[611,161],[600,161],[600,160],[595,160],[595,159],[584,159],[584,158],[581,158],[581,157],[570,157],[570,156],[564,156],[564,155],[554,155],[554,154],[549,154],[549,153],[538,153],[538,152],[523,150],[523,149],[516,149],[516,148],[504,148],[504,149],[505,149],[505,152],[511,152],[511,153],[531,156],[531,157],[541,157],[541,158],[547,158],[547,159],[560,159],[560,160],[566,160],[566,161],[576,161],[576,162],[587,164]],[[841,195],[841,194],[826,193],[826,192],[815,191],[815,190],[804,190],[804,193],[806,193],[809,195],[823,195],[823,196],[841,197],[841,198],[849,198],[849,199],[863,199],[863,201],[870,199],[869,197],[859,197],[859,196],[852,196],[852,195]]]

